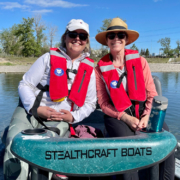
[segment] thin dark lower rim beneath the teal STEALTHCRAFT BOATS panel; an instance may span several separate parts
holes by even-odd
[[[152,167],[152,166],[154,166],[156,164],[159,164],[159,163],[163,162],[165,159],[167,159],[175,151],[176,148],[177,148],[177,145],[173,148],[173,150],[165,158],[163,158],[160,161],[155,162],[155,163],[153,163],[151,165],[143,166],[143,167],[140,167],[140,168],[134,168],[134,169],[131,169],[131,170],[126,170],[126,171],[121,171],[121,172],[113,172],[113,173],[105,173],[105,174],[71,174],[71,173],[64,173],[64,172],[60,172],[60,171],[59,172],[58,171],[53,171],[53,170],[49,170],[47,168],[38,166],[38,165],[36,165],[34,163],[28,162],[26,159],[18,156],[16,153],[14,153],[12,150],[11,150],[11,152],[12,152],[12,154],[14,156],[19,158],[20,160],[30,164],[31,166],[34,166],[34,167],[39,168],[39,169],[42,169],[44,171],[52,172],[52,173],[55,173],[55,174],[63,174],[63,175],[67,175],[67,176],[77,176],[77,177],[78,176],[79,177],[95,177],[95,176],[97,176],[98,177],[98,176],[111,176],[111,175],[116,175],[116,174],[124,174],[124,173],[127,173],[127,172],[132,172],[132,171],[136,171],[136,170],[141,170],[141,169],[146,169],[146,168]]]

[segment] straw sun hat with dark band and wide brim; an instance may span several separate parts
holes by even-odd
[[[137,31],[129,30],[127,24],[123,20],[120,18],[114,18],[112,19],[106,31],[100,32],[96,35],[96,40],[102,45],[107,46],[106,34],[112,31],[126,32],[128,35],[128,42],[126,45],[131,44],[139,37],[139,33]]]

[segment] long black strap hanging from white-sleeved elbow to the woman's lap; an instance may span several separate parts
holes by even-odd
[[[43,93],[46,92],[46,91],[49,91],[49,85],[45,85],[45,86],[42,86],[40,83],[36,86],[38,89],[40,89],[41,91],[39,92],[39,94],[37,95],[36,97],[36,100],[34,102],[34,105],[33,107],[31,108],[31,113],[32,115],[36,118],[36,120],[45,127],[45,129],[48,129],[50,131],[53,131],[55,133],[57,133],[58,135],[60,134],[60,130],[56,127],[47,127],[43,121],[46,121],[46,119],[43,119],[43,118],[40,118],[38,116],[38,113],[37,113],[37,109],[40,105],[40,102],[41,102],[41,99],[43,97]]]

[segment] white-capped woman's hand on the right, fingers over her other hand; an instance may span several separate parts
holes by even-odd
[[[51,119],[53,121],[63,120],[68,123],[72,123],[74,121],[72,114],[68,110],[65,110],[65,109],[61,109],[59,114],[51,115]]]

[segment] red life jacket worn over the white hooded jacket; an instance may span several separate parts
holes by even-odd
[[[50,61],[49,94],[52,101],[68,96],[77,106],[83,106],[94,68],[94,61],[90,58],[81,61],[70,93],[68,93],[66,58],[62,56],[58,48],[50,49]]]

